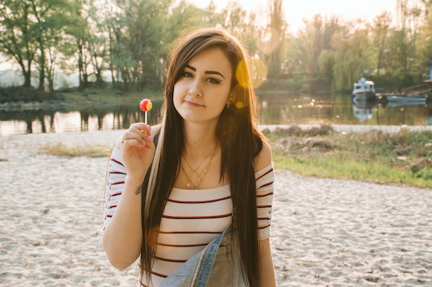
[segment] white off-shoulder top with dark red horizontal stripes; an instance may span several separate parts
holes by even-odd
[[[106,182],[104,227],[110,222],[121,197],[126,168],[121,151],[112,151]],[[260,240],[270,237],[273,212],[275,172],[273,162],[255,172],[257,182],[257,220]],[[228,226],[232,220],[233,202],[229,185],[214,189],[173,188],[161,218],[155,264],[152,270],[153,286],[201,251]],[[148,282],[141,282],[149,286]]]

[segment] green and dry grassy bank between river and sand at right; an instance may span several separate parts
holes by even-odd
[[[302,176],[432,188],[432,132],[266,132],[277,169]]]

